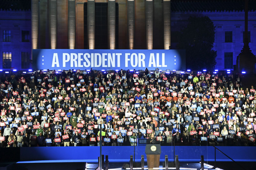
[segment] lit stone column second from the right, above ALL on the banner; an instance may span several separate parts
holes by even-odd
[[[153,0],[146,0],[147,49],[153,49]]]

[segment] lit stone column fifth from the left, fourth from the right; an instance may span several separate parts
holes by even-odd
[[[116,0],[108,0],[108,45],[114,50],[116,43]]]

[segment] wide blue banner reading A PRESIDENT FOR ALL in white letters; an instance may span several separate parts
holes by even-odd
[[[184,50],[32,50],[34,70],[185,70]]]

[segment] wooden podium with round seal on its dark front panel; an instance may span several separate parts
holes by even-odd
[[[159,168],[161,145],[147,144],[145,153],[147,155],[148,169]]]

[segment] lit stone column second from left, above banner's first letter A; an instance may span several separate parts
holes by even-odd
[[[56,0],[50,0],[50,41],[51,41],[51,49],[56,49]]]

